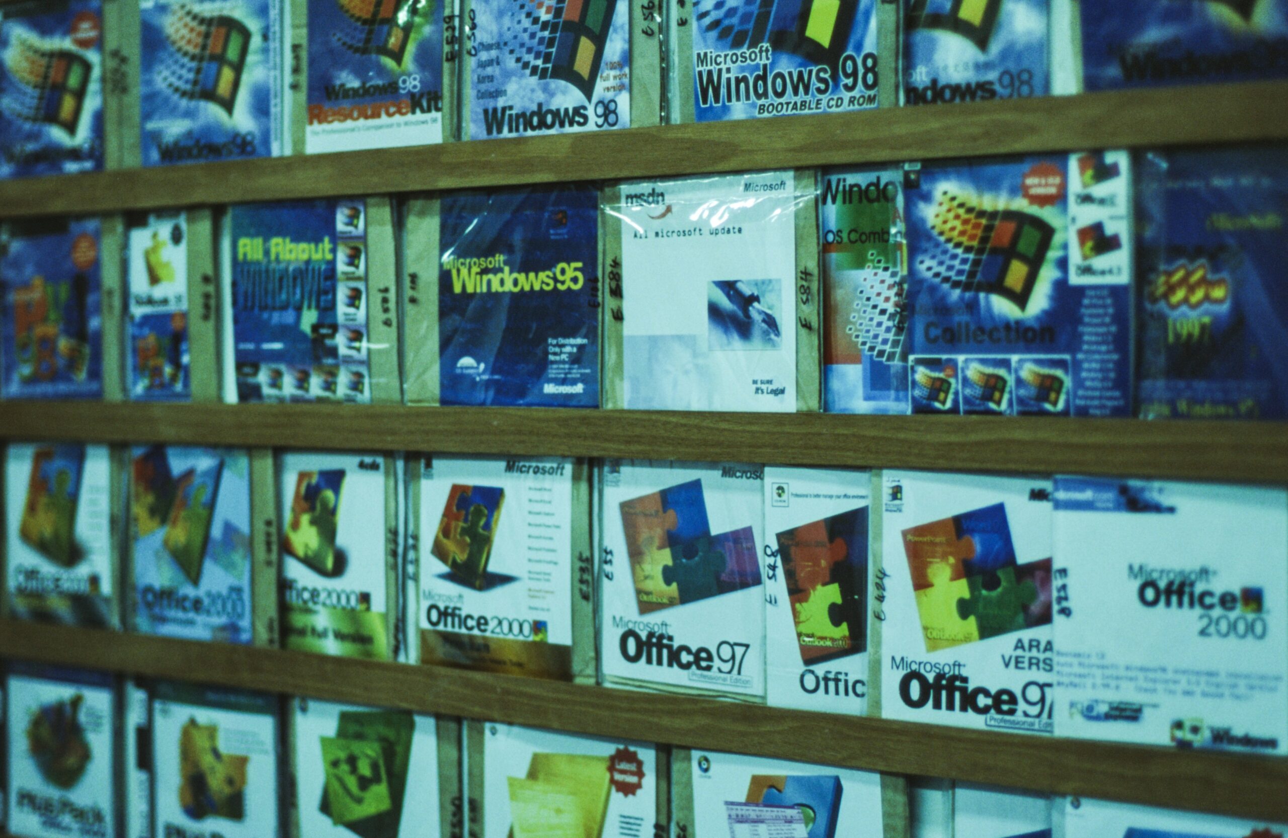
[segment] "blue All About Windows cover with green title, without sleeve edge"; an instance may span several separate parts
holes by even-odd
[[[237,400],[370,402],[366,202],[234,206],[228,230]]]

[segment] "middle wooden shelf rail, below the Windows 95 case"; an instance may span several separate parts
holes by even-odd
[[[1288,483],[1285,422],[5,402],[0,439]]]

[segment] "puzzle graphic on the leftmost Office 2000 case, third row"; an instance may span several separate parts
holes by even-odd
[[[76,502],[84,465],[84,445],[37,448],[31,461],[18,535],[61,568],[75,566],[84,555],[76,543]]]

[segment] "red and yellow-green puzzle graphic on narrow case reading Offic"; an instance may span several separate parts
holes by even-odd
[[[867,508],[777,534],[805,664],[867,650]]]

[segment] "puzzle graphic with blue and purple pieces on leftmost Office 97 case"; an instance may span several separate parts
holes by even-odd
[[[620,508],[640,614],[760,584],[751,528],[711,534],[702,480]]]

